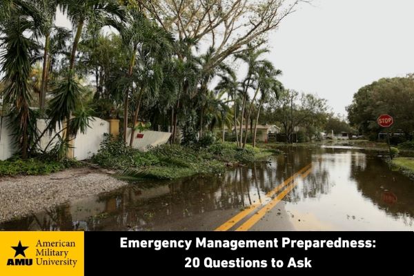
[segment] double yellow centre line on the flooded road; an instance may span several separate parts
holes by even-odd
[[[260,219],[262,219],[262,217],[264,217],[264,215],[266,215],[266,213],[268,213],[270,210],[272,210],[273,207],[276,206],[276,204],[279,203],[279,201],[281,201],[282,199],[284,199],[284,197],[286,197],[286,195],[293,190],[293,188],[295,188],[295,186],[297,186],[297,181],[295,181],[295,179],[297,177],[301,177],[302,179],[304,179],[305,177],[307,177],[309,175],[309,173],[311,173],[312,170],[312,164],[308,164],[307,166],[304,166],[304,168],[298,170],[294,175],[292,175],[291,177],[289,177],[288,179],[286,179],[282,184],[279,184],[276,188],[274,188],[273,190],[270,190],[268,193],[266,193],[266,197],[273,197],[273,195],[276,195],[280,190],[282,190],[283,188],[285,188],[288,184],[290,184],[289,186],[287,186],[282,193],[279,193],[279,195],[277,195],[277,197],[271,199],[267,204],[254,204],[254,205],[250,205],[248,208],[242,210],[242,212],[238,213],[237,215],[235,215],[234,217],[232,217],[231,219],[229,219],[228,221],[226,221],[224,224],[221,224],[221,226],[217,227],[215,229],[215,231],[227,231],[230,228],[232,228],[233,226],[235,226],[237,223],[239,223],[239,221],[242,221],[245,217],[247,217],[248,215],[250,215],[251,213],[253,213],[253,211],[256,210],[256,208],[258,206],[261,206],[259,208],[259,210],[257,210],[257,212],[252,215],[251,217],[249,217],[249,219],[247,219],[241,226],[239,226],[236,231],[247,231],[250,228],[252,228],[257,221],[259,221]]]

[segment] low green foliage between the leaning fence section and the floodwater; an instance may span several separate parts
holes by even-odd
[[[129,148],[119,139],[106,135],[101,150],[92,161],[106,168],[119,170],[123,178],[175,179],[197,174],[220,173],[224,162],[250,163],[263,150],[233,143],[215,143],[204,148],[162,145],[148,152]]]

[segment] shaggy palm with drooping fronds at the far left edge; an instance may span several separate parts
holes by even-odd
[[[30,126],[32,95],[28,80],[36,61],[38,45],[27,34],[34,29],[33,21],[19,10],[14,10],[10,17],[3,20],[1,27],[1,47],[4,51],[0,55],[0,64],[4,72],[3,81],[6,83],[1,93],[4,103],[10,106],[17,141],[21,145],[21,157],[27,159],[30,132],[33,132],[33,126]]]

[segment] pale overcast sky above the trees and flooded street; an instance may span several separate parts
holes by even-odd
[[[313,0],[269,34],[286,88],[317,94],[346,115],[359,88],[414,72],[413,0]],[[66,17],[57,25],[70,27]]]

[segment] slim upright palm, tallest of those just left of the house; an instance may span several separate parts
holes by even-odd
[[[257,46],[253,46],[253,44],[248,44],[244,52],[235,55],[236,59],[242,59],[242,61],[244,61],[248,66],[248,72],[247,72],[246,78],[242,82],[243,102],[242,102],[242,112],[240,114],[241,119],[240,119],[240,129],[239,129],[240,141],[238,142],[239,146],[242,146],[242,143],[243,143],[243,120],[244,120],[244,111],[246,109],[246,101],[248,99],[248,90],[252,88],[253,77],[255,76],[255,73],[257,72],[257,68],[259,67],[260,63],[262,63],[262,60],[259,60],[259,57],[264,55],[267,52],[269,51],[266,48],[257,49]],[[248,117],[246,120],[248,121]],[[247,128],[246,128],[246,136],[247,136]],[[246,144],[246,142],[244,142],[244,144]]]

